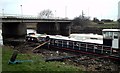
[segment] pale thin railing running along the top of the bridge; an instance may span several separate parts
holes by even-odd
[[[0,18],[3,20],[53,20],[53,21],[71,21],[70,19],[66,18],[58,18],[58,17],[53,17],[53,18],[41,18],[38,16],[33,16],[33,15],[20,15],[20,14],[0,14]],[[18,21],[19,22],[19,21]]]

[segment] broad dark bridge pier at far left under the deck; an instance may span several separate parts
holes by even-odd
[[[3,44],[6,45],[19,45],[20,41],[25,40],[27,34],[27,28],[24,23],[11,22],[2,23],[2,36]],[[15,41],[16,42],[15,42]]]

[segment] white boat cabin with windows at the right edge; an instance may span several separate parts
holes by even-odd
[[[120,49],[120,29],[103,29],[103,45]]]

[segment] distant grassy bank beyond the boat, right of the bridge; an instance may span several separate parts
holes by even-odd
[[[109,23],[104,23],[104,24],[98,24],[92,22],[90,25],[87,27],[81,29],[79,26],[74,26],[72,29],[72,33],[94,33],[94,34],[100,34],[102,35],[102,30],[103,29],[116,29],[118,28],[118,23],[117,22],[109,22]]]

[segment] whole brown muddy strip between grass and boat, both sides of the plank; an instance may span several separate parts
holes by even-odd
[[[17,46],[14,49],[18,49],[21,53],[29,53],[37,45],[39,45],[39,43],[26,43],[24,45]],[[74,53],[54,48],[38,48],[35,49],[32,53],[41,55],[43,60],[57,59],[55,61],[59,61],[58,59],[61,60],[62,58],[61,62],[64,64],[77,66],[83,71],[120,71],[120,64],[105,57]],[[66,59],[65,57],[70,58]]]

